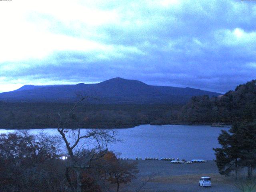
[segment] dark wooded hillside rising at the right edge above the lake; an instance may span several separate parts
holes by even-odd
[[[183,106],[179,122],[256,121],[256,80],[241,84],[218,98],[196,96]]]

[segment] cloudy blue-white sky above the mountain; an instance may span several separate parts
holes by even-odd
[[[0,92],[110,78],[224,93],[256,79],[256,1],[0,1]]]

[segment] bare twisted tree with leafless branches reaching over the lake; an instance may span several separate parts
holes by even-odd
[[[87,98],[88,97],[80,95],[80,99],[76,104],[74,104],[73,108],[68,112],[68,114],[66,114],[66,116],[62,116],[60,113],[58,113],[56,117],[52,115],[48,116],[48,118],[56,123],[57,130],[62,140],[64,140],[66,149],[70,156],[69,164],[66,166],[65,175],[70,189],[73,192],[82,191],[82,173],[85,170],[92,168],[92,161],[104,156],[108,151],[108,144],[117,141],[115,138],[116,132],[114,130],[90,129],[86,130],[86,132],[82,134],[79,126],[71,129],[66,128],[67,124],[74,120],[74,110]],[[78,157],[80,152],[84,146],[88,146],[92,141],[97,145],[97,147],[92,150],[93,153],[90,153],[87,156],[86,162],[79,161]],[[72,182],[70,178],[71,171],[74,171],[76,174],[76,182]]]

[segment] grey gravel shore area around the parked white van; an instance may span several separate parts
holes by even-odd
[[[214,161],[192,164],[171,164],[168,161],[138,160],[139,174],[122,191],[141,192],[239,192],[232,178],[218,174]],[[146,182],[149,176],[154,177]],[[212,178],[212,187],[200,187],[201,176]],[[145,184],[146,183],[146,184]]]

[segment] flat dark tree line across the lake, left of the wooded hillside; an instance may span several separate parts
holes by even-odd
[[[73,103],[0,102],[0,128],[55,128],[48,114],[66,114]],[[168,124],[172,111],[180,106],[172,104],[88,104],[83,102],[72,113],[74,128],[128,128],[140,124]]]

